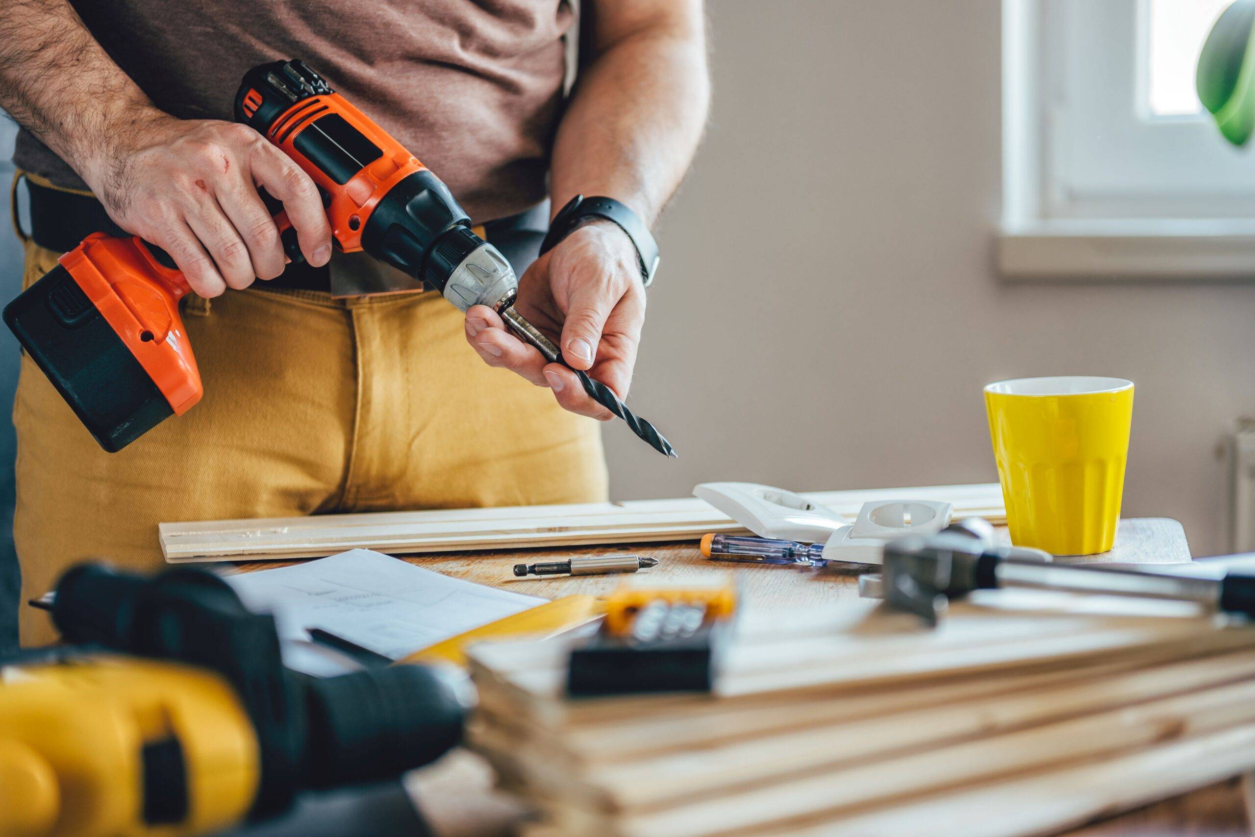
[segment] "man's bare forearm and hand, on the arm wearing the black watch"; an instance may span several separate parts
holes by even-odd
[[[611,195],[653,227],[702,135],[710,84],[702,0],[587,0],[591,38],[558,124],[550,168],[553,207],[576,194]],[[584,18],[581,18],[584,20]],[[581,30],[582,31],[582,30]],[[587,61],[585,59],[587,58]],[[556,341],[563,360],[628,395],[645,288],[636,248],[616,224],[577,228],[522,277],[520,313]],[[483,306],[467,312],[467,340],[491,366],[547,386],[567,410],[611,418],[571,370],[545,363]]]

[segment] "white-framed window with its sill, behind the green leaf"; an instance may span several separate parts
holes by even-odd
[[[1255,278],[1255,149],[1195,93],[1231,0],[1004,0],[1004,274]]]

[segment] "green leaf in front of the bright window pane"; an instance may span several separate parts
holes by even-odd
[[[1207,35],[1199,56],[1199,100],[1234,145],[1255,132],[1255,0],[1236,0]]]

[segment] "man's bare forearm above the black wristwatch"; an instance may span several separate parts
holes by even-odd
[[[595,43],[581,49],[594,58],[558,127],[552,212],[577,193],[604,194],[653,224],[693,160],[709,108],[702,4],[586,5]]]

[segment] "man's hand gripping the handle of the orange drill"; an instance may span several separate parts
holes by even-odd
[[[144,110],[114,127],[93,158],[80,173],[109,216],[169,253],[202,297],[284,272],[257,187],[284,203],[310,264],[331,257],[314,180],[247,125]]]

